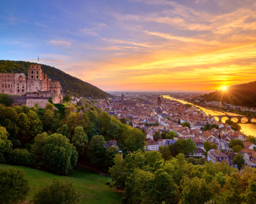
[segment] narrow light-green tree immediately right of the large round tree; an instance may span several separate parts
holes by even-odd
[[[84,153],[86,151],[86,145],[88,143],[88,137],[87,137],[86,133],[84,132],[84,129],[82,126],[77,126],[74,129],[72,143],[73,143],[74,147],[76,147],[76,151],[79,153],[79,155],[84,155]]]

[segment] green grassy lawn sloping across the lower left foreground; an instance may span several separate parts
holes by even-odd
[[[0,169],[8,167],[24,170],[31,187],[31,192],[27,200],[37,192],[41,185],[52,183],[52,179],[57,178],[61,181],[69,180],[74,183],[77,190],[82,194],[81,203],[121,203],[122,194],[106,185],[107,181],[111,181],[110,178],[99,176],[99,174],[89,172],[81,167],[76,167],[74,173],[69,176],[59,176],[24,166],[0,165]]]

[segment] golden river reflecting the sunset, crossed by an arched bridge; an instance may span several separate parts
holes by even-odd
[[[165,99],[171,99],[173,100],[174,98],[168,96],[168,95],[163,95],[163,97]],[[180,103],[183,103],[183,104],[191,104],[191,105],[195,105],[195,104],[192,104],[192,103],[189,103],[187,101],[183,101],[183,100],[180,100],[180,99],[174,99],[176,101],[179,101]],[[202,111],[204,111],[207,115],[225,115],[225,113],[227,115],[232,115],[232,116],[238,116],[239,114],[234,114],[232,112],[224,112],[224,111],[215,111],[215,110],[210,110],[208,108],[204,108],[204,107],[201,107],[199,105],[195,105],[196,107],[199,107]],[[241,115],[239,115],[241,116]],[[227,118],[222,118],[222,122],[225,122]],[[236,122],[236,121],[234,121]],[[242,122],[245,122],[242,120]],[[241,132],[246,134],[247,136],[248,135],[253,135],[253,136],[256,136],[256,124],[255,123],[239,123],[239,125],[241,126]]]

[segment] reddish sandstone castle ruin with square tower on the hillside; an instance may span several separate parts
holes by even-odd
[[[24,73],[0,73],[0,93],[16,95],[12,96],[14,103],[29,107],[38,103],[44,108],[49,98],[53,103],[62,102],[61,84],[48,79],[40,64],[30,64],[27,72],[27,77]]]

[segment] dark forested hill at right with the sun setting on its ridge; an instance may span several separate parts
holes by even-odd
[[[256,81],[229,86],[226,90],[204,94],[207,101],[221,101],[233,105],[256,107]]]

